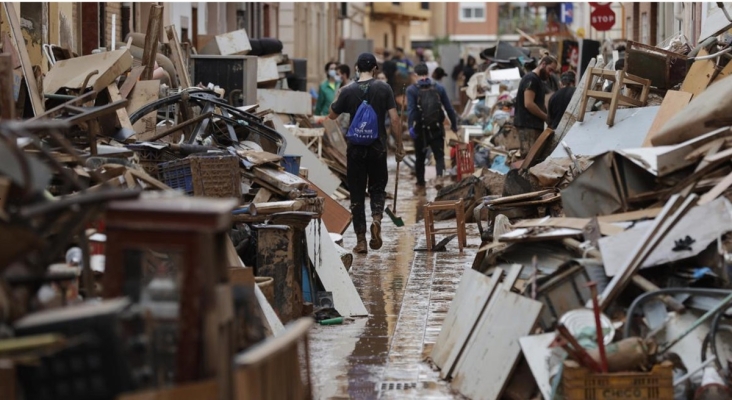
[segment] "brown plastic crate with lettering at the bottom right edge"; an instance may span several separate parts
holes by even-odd
[[[673,365],[665,361],[651,372],[595,374],[565,364],[562,386],[565,400],[673,399]]]

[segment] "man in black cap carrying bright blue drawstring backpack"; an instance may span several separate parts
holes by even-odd
[[[362,53],[356,62],[357,81],[341,89],[341,93],[330,106],[330,119],[348,113],[351,123],[346,133],[346,175],[351,194],[353,230],[356,232],[354,253],[365,254],[366,246],[366,188],[371,199],[372,250],[381,248],[381,220],[386,202],[386,182],[389,173],[386,168],[386,125],[387,114],[392,121],[399,121],[396,101],[391,87],[375,79],[376,57]],[[404,159],[404,147],[399,129],[400,124],[391,125],[396,137],[396,159]]]

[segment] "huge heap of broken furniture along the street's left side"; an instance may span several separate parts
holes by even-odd
[[[341,181],[280,118],[310,99],[278,115],[194,86],[172,26],[41,83],[2,7],[0,398],[310,398],[302,317],[367,314]]]

